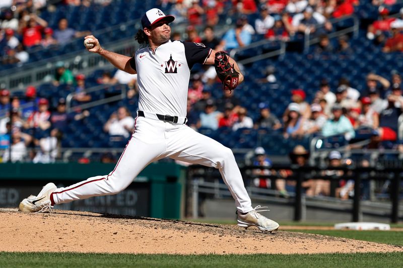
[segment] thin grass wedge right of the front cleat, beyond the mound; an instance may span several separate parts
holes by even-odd
[[[323,235],[403,246],[403,232],[399,231],[355,231],[355,230],[287,230],[287,231],[311,233],[311,234],[323,234]]]

